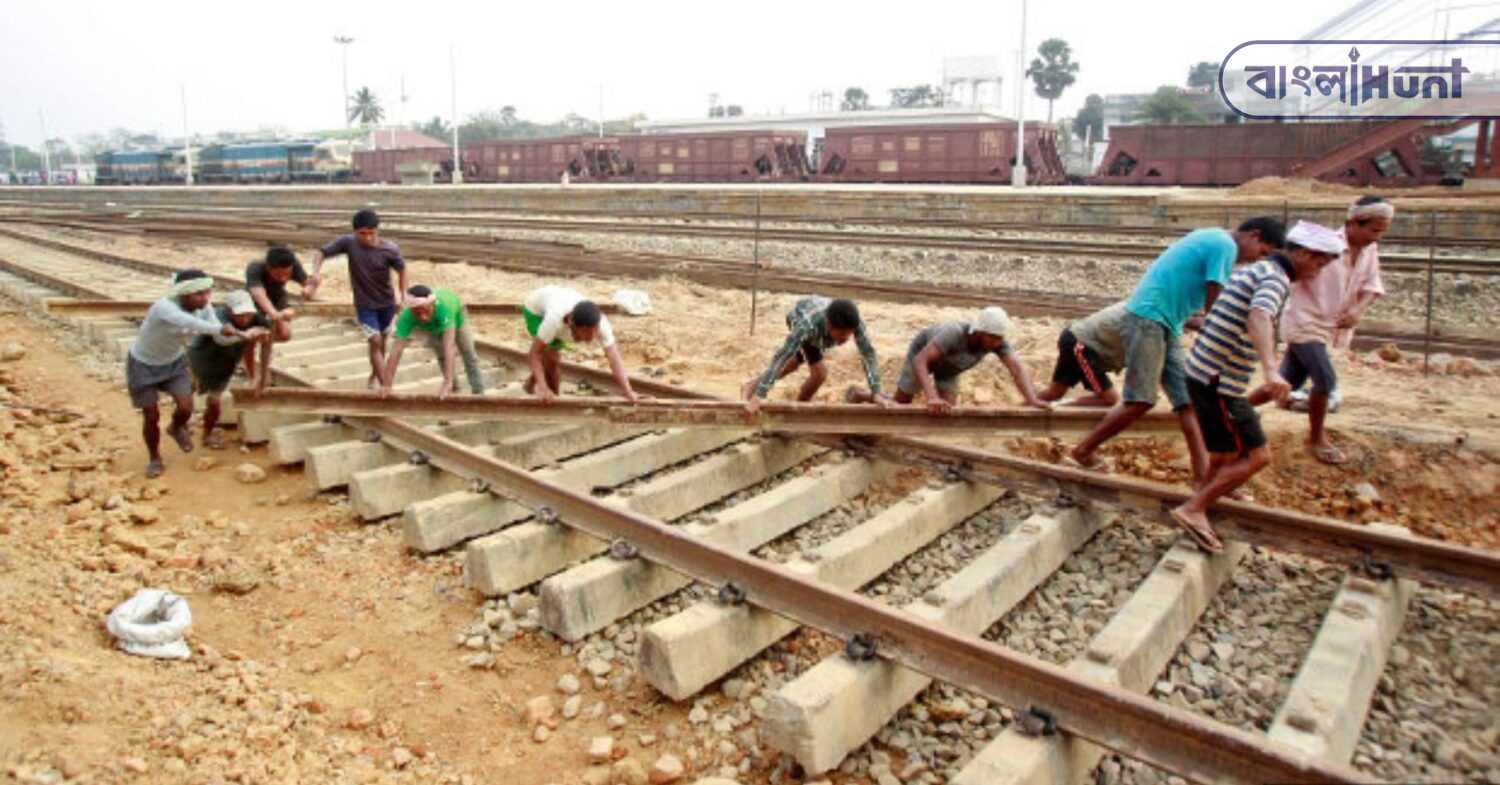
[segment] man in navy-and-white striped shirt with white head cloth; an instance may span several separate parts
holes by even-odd
[[[1280,401],[1292,392],[1276,371],[1275,318],[1281,303],[1293,281],[1312,279],[1342,252],[1344,239],[1336,231],[1299,221],[1287,233],[1286,252],[1230,278],[1192,342],[1186,386],[1209,450],[1209,471],[1192,498],[1172,510],[1172,518],[1204,551],[1224,549],[1209,525],[1208,509],[1270,464],[1266,434],[1248,396],[1257,362],[1266,377],[1257,390],[1260,396]]]

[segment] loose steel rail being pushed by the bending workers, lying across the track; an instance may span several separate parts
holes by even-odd
[[[1104,410],[972,408],[930,414],[926,407],[766,402],[753,420],[736,401],[640,401],[624,398],[494,398],[480,395],[388,395],[352,390],[270,389],[254,396],[237,387],[236,407],[294,414],[504,419],[510,422],[639,425],[646,428],[756,429],[788,434],[1060,435],[1094,429]],[[1148,414],[1128,434],[1178,431],[1172,414]]]

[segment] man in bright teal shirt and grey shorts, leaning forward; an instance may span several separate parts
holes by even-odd
[[[1192,462],[1192,485],[1208,474],[1203,432],[1188,398],[1184,365],[1182,329],[1197,329],[1203,312],[1228,282],[1236,263],[1256,261],[1286,242],[1286,227],[1274,218],[1251,218],[1234,231],[1203,228],[1172,243],[1146,269],[1136,293],[1118,315],[1125,342],[1125,389],[1120,402],[1083,437],[1070,453],[1083,467],[1094,468],[1101,444],[1138,420],[1156,405],[1158,384],[1166,389]]]

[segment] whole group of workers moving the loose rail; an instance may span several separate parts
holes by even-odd
[[[1233,494],[1270,462],[1256,407],[1302,405],[1308,411],[1308,452],[1328,464],[1344,456],[1324,429],[1330,399],[1336,401],[1332,351],[1346,348],[1364,312],[1384,290],[1377,243],[1390,227],[1395,207],[1364,197],[1348,207],[1340,230],[1299,221],[1290,231],[1274,218],[1252,218],[1234,231],[1202,228],[1168,246],[1146,270],[1130,299],[1078,320],[1058,338],[1052,381],[1036,390],[1006,339],[1011,320],[999,306],[972,321],[944,321],[918,332],[906,351],[894,396],[880,384],[880,369],[858,306],[848,299],[804,297],[786,315],[788,336],[770,366],[746,381],[741,393],[747,419],[782,378],[807,366],[798,401],[812,401],[828,378],[825,353],[850,338],[864,365],[866,389],[849,387],[850,404],[894,407],[918,395],[934,416],[958,401],[958,377],[994,354],[1006,368],[1026,405],[1107,407],[1108,413],[1083,437],[1068,459],[1083,468],[1104,468],[1098,449],[1149,411],[1166,392],[1176,413],[1192,471],[1192,497],[1172,510],[1173,519],[1208,551],[1222,543],[1206,510]],[[388,395],[406,342],[422,332],[440,356],[438,395],[454,389],[462,357],[470,390],[484,392],[484,378],[464,303],[452,290],[410,285],[400,249],[380,236],[374,210],[354,215],[352,234],[316,249],[309,275],[286,248],[272,248],[246,269],[246,290],[208,308],[214,281],[201,270],[177,273],[166,297],[152,305],[130,347],[126,378],[130,401],[141,408],[150,453],[147,476],[162,473],[158,393],[176,401],[166,429],[184,450],[194,447],[188,422],[192,392],[207,396],[204,440],[222,449],[214,434],[219,395],[243,362],[255,390],[272,374],[272,347],[291,339],[296,309],[286,284],[302,285],[310,300],[326,260],[346,257],[354,315],[369,347],[368,386]],[[398,302],[392,278],[402,291]],[[567,287],[542,287],[522,305],[531,338],[530,377],[524,386],[542,402],[561,393],[561,356],[570,339],[597,342],[618,387],[630,401],[630,386],[609,318]],[[1276,362],[1276,327],[1287,351]],[[1184,350],[1184,330],[1197,332]],[[250,347],[260,345],[258,351]],[[1263,381],[1252,387],[1260,369]],[[1110,374],[1124,372],[1116,392]],[[1311,390],[1294,395],[1305,383]],[[1072,387],[1084,395],[1064,399]]]

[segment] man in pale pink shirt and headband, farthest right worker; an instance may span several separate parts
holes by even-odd
[[[1334,446],[1323,429],[1329,395],[1338,390],[1338,375],[1329,357],[1330,350],[1347,350],[1354,339],[1354,326],[1365,309],[1386,293],[1380,284],[1380,236],[1390,228],[1396,209],[1382,197],[1360,197],[1348,209],[1342,236],[1348,243],[1344,257],[1323,269],[1322,275],[1298,281],[1281,312],[1281,339],[1287,354],[1281,360],[1281,377],[1296,390],[1312,381],[1306,396],[1308,452],[1324,464],[1344,462],[1344,453]],[[1264,401],[1256,401],[1256,404]]]

